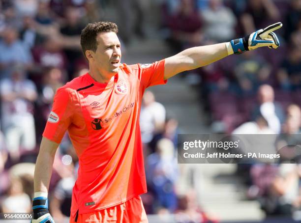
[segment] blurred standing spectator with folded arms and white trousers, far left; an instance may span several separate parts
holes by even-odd
[[[32,150],[35,147],[32,103],[37,98],[36,87],[25,78],[22,66],[14,66],[11,77],[0,82],[0,95],[3,133],[11,158],[17,161],[20,148]]]

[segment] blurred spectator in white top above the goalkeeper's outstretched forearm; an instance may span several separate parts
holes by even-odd
[[[209,7],[201,11],[204,35],[215,42],[226,42],[235,37],[237,24],[233,11],[222,0],[210,0]]]

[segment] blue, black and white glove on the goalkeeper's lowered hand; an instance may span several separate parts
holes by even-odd
[[[42,193],[42,195],[33,198],[32,210],[33,218],[31,223],[54,223],[48,211],[47,193]]]

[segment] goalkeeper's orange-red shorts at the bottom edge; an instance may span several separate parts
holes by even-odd
[[[79,214],[77,222],[70,217],[70,223],[148,223],[140,196],[124,203],[86,214]]]

